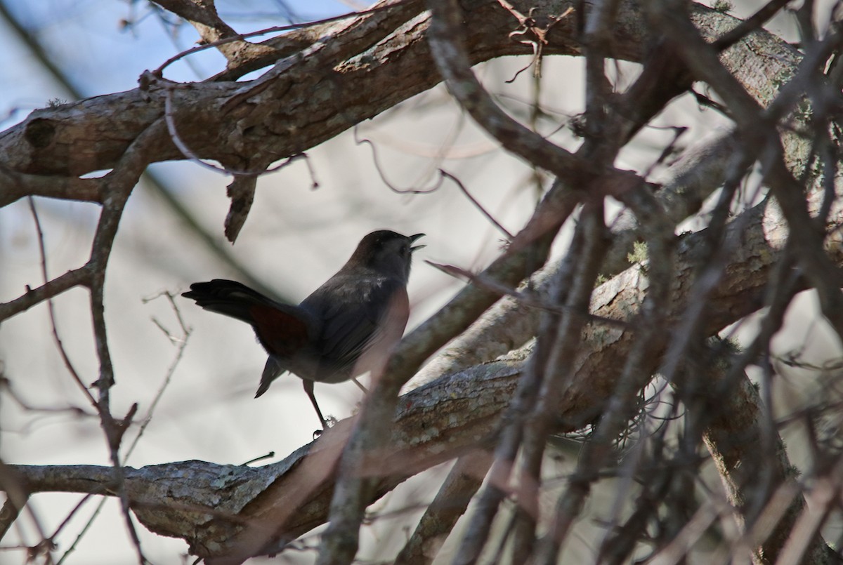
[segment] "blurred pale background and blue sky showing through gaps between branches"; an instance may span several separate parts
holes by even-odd
[[[137,77],[144,70],[158,67],[196,41],[191,26],[173,28],[142,2],[7,0],[5,4],[46,45],[86,97],[135,88]],[[352,9],[347,3],[328,1],[286,5],[304,20]],[[217,8],[221,17],[241,32],[287,23],[282,4],[272,0],[217,1]],[[743,4],[735,9],[738,15],[750,11]],[[133,23],[125,26],[124,20]],[[787,25],[787,21],[777,20],[771,27],[786,29]],[[185,61],[170,67],[167,76],[180,81],[199,80],[223,68],[223,58],[213,51],[192,56],[188,61],[190,64]],[[513,85],[504,84],[504,80],[524,64],[524,60],[510,58],[478,69],[487,87],[501,96],[502,104],[522,115],[533,96],[530,73],[522,73]],[[582,110],[582,66],[581,61],[558,57],[545,60],[544,68],[541,100],[550,119],[540,125],[540,131],[549,133],[564,122],[566,115]],[[0,120],[4,120],[0,131],[51,99],[71,98],[6,24],[0,23]],[[719,116],[699,111],[687,98],[674,104],[657,121],[688,126],[689,141],[722,123]],[[510,232],[517,232],[529,217],[536,199],[529,168],[497,150],[497,144],[460,114],[441,87],[362,124],[359,135],[377,143],[382,169],[392,184],[404,189],[428,186],[432,172],[443,167],[458,175]],[[646,168],[670,137],[670,131],[645,131],[635,149],[625,152],[618,164]],[[554,139],[566,147],[576,147],[576,141],[564,130]],[[439,163],[435,156],[446,141],[453,145],[452,152]],[[373,229],[427,233],[423,241],[427,248],[417,254],[411,275],[414,312],[408,328],[434,312],[461,285],[422,259],[481,269],[496,256],[500,234],[453,184],[446,184],[431,195],[395,194],[377,173],[371,149],[355,144],[352,131],[308,154],[319,189],[311,189],[312,180],[303,163],[260,179],[249,221],[234,246],[223,238],[223,219],[228,211],[227,177],[194,163],[161,163],[152,169],[220,245],[226,246],[279,295],[294,301],[303,299],[332,275],[360,237]],[[36,200],[36,205],[44,225],[50,275],[60,275],[83,264],[89,255],[99,207],[49,200]],[[560,243],[559,247],[563,246]],[[113,412],[121,416],[132,402],[138,402],[138,414],[142,416],[150,408],[176,353],[153,318],[178,333],[167,301],[145,299],[164,290],[180,293],[197,280],[235,275],[142,183],[126,208],[107,276],[106,316],[117,380],[112,389]],[[35,228],[29,205],[21,200],[0,209],[0,301],[19,296],[24,285],[40,284]],[[266,354],[255,343],[250,328],[203,312],[191,301],[177,298],[176,304],[193,332],[151,424],[126,463],[143,466],[200,459],[237,464],[271,450],[276,458],[268,461],[277,461],[307,443],[318,428],[318,420],[301,382],[292,376],[282,377],[264,397],[255,400]],[[73,364],[84,381],[94,381],[98,365],[90,335],[87,292],[72,290],[60,296],[56,299],[56,311],[58,330]],[[810,323],[801,327],[810,328]],[[72,406],[90,412],[56,353],[48,328],[44,305],[3,322],[3,373],[30,408]],[[815,338],[818,334],[820,337]],[[812,347],[830,346],[821,330],[811,335]],[[360,399],[360,392],[352,383],[317,384],[316,394],[323,411],[337,418],[349,416]],[[0,410],[0,453],[4,461],[34,465],[109,464],[96,418],[23,409],[6,393],[0,395]],[[134,433],[137,428],[128,434],[128,440],[133,439]],[[405,495],[412,496],[415,488],[421,487],[410,482]],[[428,495],[418,496],[424,499]],[[33,504],[46,531],[51,532],[80,498],[39,495]],[[95,504],[95,500],[89,502],[81,516],[87,517]],[[17,542],[19,536],[27,543],[36,541],[28,520],[19,522],[19,530],[3,545]],[[82,518],[73,520],[59,536],[57,556],[70,546],[83,522]],[[143,550],[153,562],[180,562],[179,556],[186,548],[184,542],[153,536],[142,526],[138,529]],[[383,549],[390,544],[398,544],[397,549],[402,536],[400,530],[370,531],[364,539],[364,547],[368,548],[364,552],[377,555],[373,548]],[[133,555],[115,501],[110,500],[104,515],[80,541],[67,563],[119,565],[134,562]],[[305,554],[301,558],[309,557]],[[287,559],[293,558],[285,554],[277,562]],[[19,552],[0,552],[0,564],[17,562],[23,562]]]

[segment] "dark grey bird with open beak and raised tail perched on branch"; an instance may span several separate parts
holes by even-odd
[[[289,371],[302,379],[322,429],[328,429],[316,402],[314,382],[347,381],[367,371],[379,376],[384,370],[409,317],[407,280],[412,256],[425,247],[413,243],[424,235],[404,236],[389,230],[369,233],[336,275],[298,306],[223,279],[193,283],[181,296],[255,329],[258,342],[269,354],[255,398]]]

